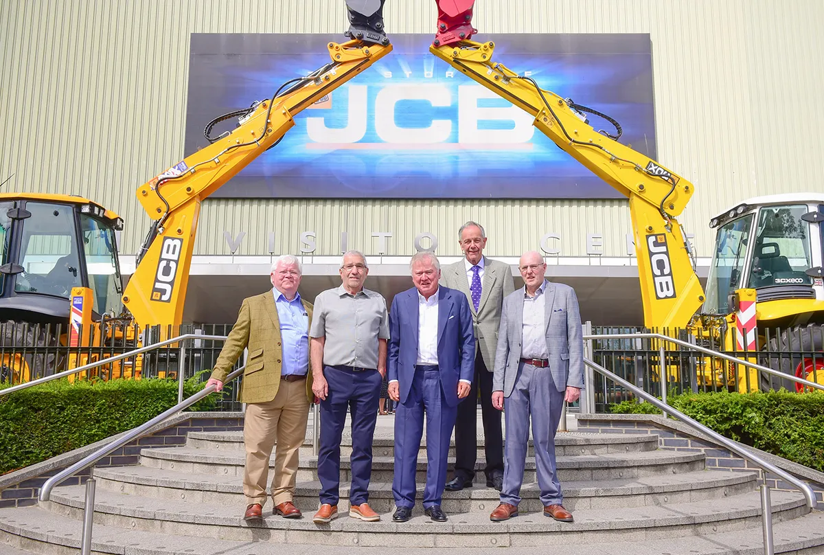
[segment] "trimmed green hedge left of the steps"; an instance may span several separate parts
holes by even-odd
[[[185,382],[185,397],[204,388],[199,381],[197,375]],[[63,379],[0,397],[0,474],[140,426],[177,404],[177,388],[166,379]],[[190,410],[209,410],[217,402],[212,394]]]

